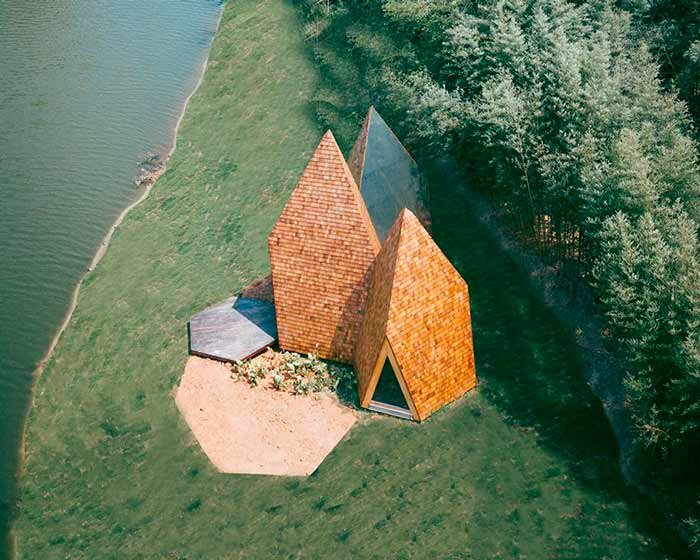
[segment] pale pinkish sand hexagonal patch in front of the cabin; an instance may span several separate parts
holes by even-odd
[[[221,472],[307,476],[357,420],[332,393],[293,395],[271,380],[231,379],[224,364],[191,356],[175,396],[202,450]]]

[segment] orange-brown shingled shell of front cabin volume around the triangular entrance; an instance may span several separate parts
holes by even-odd
[[[476,385],[467,284],[409,210],[373,267],[354,360],[360,402],[374,390],[385,341],[418,420]]]

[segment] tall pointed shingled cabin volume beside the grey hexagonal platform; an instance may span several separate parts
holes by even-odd
[[[349,362],[379,240],[333,134],[268,237],[282,348]]]

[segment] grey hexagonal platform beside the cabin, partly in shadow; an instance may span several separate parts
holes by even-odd
[[[277,341],[274,304],[232,297],[188,323],[190,354],[227,362],[245,360]]]

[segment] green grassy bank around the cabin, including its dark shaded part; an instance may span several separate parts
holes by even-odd
[[[321,134],[296,18],[280,0],[227,4],[169,170],[39,383],[21,556],[660,557],[573,345],[485,238],[440,230],[464,218],[439,188],[436,237],[472,282],[480,390],[421,426],[363,422],[308,479],[220,475],[192,442],[172,398],[185,322],[267,271],[266,234]]]

